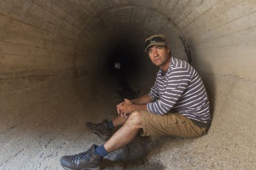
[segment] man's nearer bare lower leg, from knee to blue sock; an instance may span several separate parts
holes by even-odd
[[[119,123],[122,123],[121,119],[118,120],[120,120]],[[140,128],[142,128],[141,113],[140,111],[134,111],[123,126],[104,144],[105,149],[108,152],[112,152],[130,143]]]

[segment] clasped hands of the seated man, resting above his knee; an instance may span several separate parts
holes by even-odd
[[[129,99],[124,99],[123,102],[117,104],[116,106],[118,115],[121,115],[121,117],[125,117],[125,118],[129,117],[131,112],[135,110],[134,108],[135,108],[135,105]]]

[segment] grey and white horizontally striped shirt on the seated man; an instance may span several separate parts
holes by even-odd
[[[186,61],[171,57],[166,74],[160,69],[149,92],[154,100],[147,109],[156,115],[179,112],[187,118],[209,123],[209,100],[198,72]]]

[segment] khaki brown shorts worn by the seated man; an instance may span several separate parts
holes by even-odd
[[[176,112],[170,112],[165,115],[155,115],[148,111],[140,112],[142,119],[141,136],[197,137],[206,133],[205,127],[194,125],[190,119]]]

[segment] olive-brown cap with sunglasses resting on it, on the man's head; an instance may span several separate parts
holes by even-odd
[[[145,40],[145,52],[147,52],[148,48],[152,45],[167,45],[165,35],[156,34],[156,35],[148,37]]]

